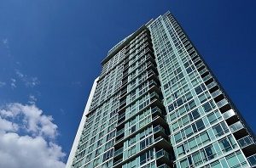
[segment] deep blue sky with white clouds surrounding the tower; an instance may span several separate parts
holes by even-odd
[[[0,0],[0,167],[63,167],[108,49],[167,10],[255,132],[255,8],[254,0]]]

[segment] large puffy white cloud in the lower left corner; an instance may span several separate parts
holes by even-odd
[[[57,134],[52,116],[35,104],[7,104],[0,109],[0,167],[65,167]]]

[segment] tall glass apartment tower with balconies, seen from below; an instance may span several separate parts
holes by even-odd
[[[108,52],[67,161],[68,168],[253,165],[253,132],[169,12]]]

